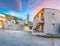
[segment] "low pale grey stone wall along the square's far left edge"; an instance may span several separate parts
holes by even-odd
[[[23,30],[24,29],[24,25],[21,25],[21,24],[8,25],[6,23],[6,24],[4,24],[4,29],[7,29],[7,30]]]

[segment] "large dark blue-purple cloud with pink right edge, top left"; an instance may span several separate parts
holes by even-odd
[[[22,8],[22,2],[19,0],[0,0],[0,8],[20,11]]]

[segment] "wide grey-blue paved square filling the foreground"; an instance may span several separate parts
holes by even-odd
[[[0,31],[0,46],[60,46],[60,38],[33,36],[26,31]]]

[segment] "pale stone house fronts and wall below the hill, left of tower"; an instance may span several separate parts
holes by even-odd
[[[15,20],[8,21],[4,23],[4,29],[6,30],[24,30],[24,21],[18,20],[19,24],[15,24]]]

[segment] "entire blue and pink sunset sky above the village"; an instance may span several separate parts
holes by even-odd
[[[26,19],[29,13],[30,21],[42,8],[60,10],[60,0],[0,0],[0,13],[11,14]]]

